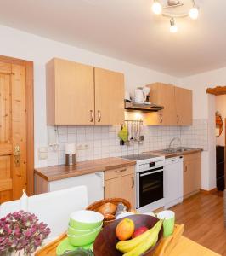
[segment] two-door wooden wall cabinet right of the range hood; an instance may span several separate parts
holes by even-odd
[[[191,90],[162,83],[147,86],[150,87],[150,102],[164,109],[146,114],[146,125],[192,125]]]

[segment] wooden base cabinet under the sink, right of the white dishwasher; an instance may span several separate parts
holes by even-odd
[[[184,155],[184,197],[201,189],[201,152]]]

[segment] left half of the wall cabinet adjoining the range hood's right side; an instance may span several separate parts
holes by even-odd
[[[146,125],[176,125],[175,92],[172,84],[155,83],[150,87],[150,102],[161,105],[163,110],[146,115]]]

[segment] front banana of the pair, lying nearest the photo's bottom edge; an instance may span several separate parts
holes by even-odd
[[[162,221],[160,220],[155,224],[154,230],[151,234],[145,238],[142,242],[138,244],[137,247],[134,247],[133,250],[124,253],[123,256],[139,256],[142,253],[145,253],[150,247],[154,247],[156,242],[158,241],[159,231],[161,230]]]

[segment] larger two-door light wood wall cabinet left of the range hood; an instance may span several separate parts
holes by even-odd
[[[123,122],[123,74],[54,58],[46,76],[48,125]]]

